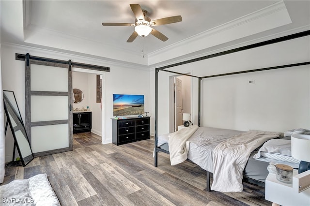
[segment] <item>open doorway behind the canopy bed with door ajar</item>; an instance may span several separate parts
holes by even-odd
[[[171,77],[171,111],[173,132],[183,125],[183,113],[191,113],[191,77],[186,75]]]

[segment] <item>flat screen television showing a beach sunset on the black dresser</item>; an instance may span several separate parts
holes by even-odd
[[[113,94],[113,116],[144,115],[144,95]]]

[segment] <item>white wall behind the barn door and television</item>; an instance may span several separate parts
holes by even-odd
[[[12,90],[15,92],[16,101],[18,103],[23,120],[25,120],[24,61],[16,60],[16,53],[30,53],[30,55],[32,56],[46,57],[52,59],[71,59],[75,62],[110,67],[110,72],[105,73],[106,92],[103,94],[103,99],[106,102],[102,104],[103,110],[106,111],[106,114],[103,117],[102,121],[104,124],[103,126],[106,129],[106,131],[102,134],[103,143],[110,143],[112,141],[111,118],[113,117],[113,93],[144,94],[145,109],[146,111],[151,111],[150,99],[152,94],[150,94],[149,71],[144,70],[142,67],[116,64],[101,59],[86,58],[68,53],[53,52],[33,47],[1,44],[1,68],[3,89]],[[55,80],[55,84],[56,83],[57,80]],[[6,148],[6,154],[10,154],[9,150],[10,148]],[[12,157],[7,157],[6,162],[11,161],[10,158]]]

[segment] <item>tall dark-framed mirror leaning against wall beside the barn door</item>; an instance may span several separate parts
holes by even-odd
[[[4,90],[3,101],[4,101],[4,111],[7,117],[5,132],[9,124],[15,141],[13,161],[16,147],[22,165],[26,166],[26,164],[28,164],[31,160],[33,160],[33,153],[30,147],[29,139],[25,130],[23,120],[19,112],[14,92]]]

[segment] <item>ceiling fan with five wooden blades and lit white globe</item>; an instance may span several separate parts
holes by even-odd
[[[151,19],[146,16],[147,11],[142,10],[139,4],[130,4],[130,7],[136,17],[135,23],[102,23],[103,26],[135,26],[135,31],[130,35],[127,42],[133,42],[138,35],[141,37],[145,37],[150,33],[161,41],[165,42],[168,40],[168,37],[154,29],[153,26],[171,24],[182,21],[182,16],[180,15],[160,18],[151,21]]]

